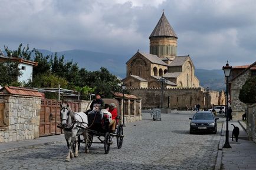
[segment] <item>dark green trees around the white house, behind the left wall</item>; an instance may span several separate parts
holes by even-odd
[[[58,57],[55,52],[52,55],[43,56],[40,51],[33,49],[29,51],[29,46],[11,51],[5,46],[5,52],[8,56],[18,56],[30,61],[38,62],[38,66],[33,68],[32,81],[26,84],[18,82],[20,76],[18,63],[0,63],[0,84],[1,85],[23,85],[36,88],[61,88],[71,89],[80,92],[82,99],[88,99],[87,94],[99,92],[106,98],[113,97],[112,92],[121,92],[120,84],[122,82],[117,76],[112,75],[106,68],[100,68],[100,71],[87,71],[85,68],[79,68],[73,61],[65,61],[64,55]],[[32,59],[34,57],[34,59]],[[10,78],[11,77],[11,78]],[[48,97],[54,98],[54,95]]]

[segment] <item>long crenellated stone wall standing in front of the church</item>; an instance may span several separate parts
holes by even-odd
[[[142,109],[161,107],[160,88],[129,88],[127,91],[142,99]],[[209,105],[219,104],[219,92],[211,91]],[[194,105],[201,105],[201,109],[206,108],[206,92],[203,88],[172,88],[163,89],[163,108],[173,108],[183,110],[188,105],[192,109]]]

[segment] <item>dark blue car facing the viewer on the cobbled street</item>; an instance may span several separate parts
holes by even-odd
[[[195,132],[212,132],[216,134],[217,132],[217,122],[219,118],[215,118],[214,114],[210,111],[196,112],[192,118],[189,118],[190,128],[189,133],[193,134]]]

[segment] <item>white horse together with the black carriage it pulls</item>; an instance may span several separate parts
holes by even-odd
[[[68,146],[68,155],[66,161],[70,161],[70,157],[78,156],[80,144],[84,143],[86,152],[92,144],[104,144],[105,154],[109,153],[110,145],[113,144],[113,138],[116,137],[117,148],[122,148],[123,144],[123,125],[120,120],[120,107],[116,99],[104,99],[105,104],[114,103],[117,109],[116,131],[111,132],[109,127],[109,119],[102,112],[84,112],[74,113],[68,105],[61,105],[61,124],[58,128],[64,129],[65,139]],[[90,109],[88,105],[87,110]],[[99,141],[94,140],[97,137]],[[73,154],[73,151],[75,154]]]

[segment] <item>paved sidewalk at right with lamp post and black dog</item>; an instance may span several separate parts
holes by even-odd
[[[238,126],[240,133],[238,142],[232,141],[232,131],[234,124]],[[245,131],[246,124],[243,121],[229,121],[229,144],[232,148],[222,148],[225,144],[226,121],[222,126],[221,141],[219,141],[219,151],[215,170],[218,169],[256,169],[256,144],[248,141],[248,135]]]

